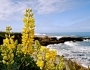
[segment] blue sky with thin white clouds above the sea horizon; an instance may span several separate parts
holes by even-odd
[[[35,33],[90,32],[90,0],[0,0],[0,31],[21,32],[32,8]]]

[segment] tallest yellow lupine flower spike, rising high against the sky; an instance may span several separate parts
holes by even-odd
[[[34,18],[32,9],[26,9],[25,17],[23,19],[24,28],[22,30],[22,46],[26,47],[26,53],[30,54],[32,52],[32,45],[34,43]],[[32,22],[32,23],[31,23]],[[30,48],[30,49],[29,49]]]

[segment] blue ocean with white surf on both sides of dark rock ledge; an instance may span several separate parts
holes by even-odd
[[[41,33],[44,36],[54,36],[57,39],[63,36],[72,37],[90,37],[90,32],[62,32],[62,33]],[[90,66],[90,40],[84,40],[82,42],[67,41],[65,43],[50,44],[47,47],[57,50],[58,55],[63,55],[65,58],[70,58],[81,64],[84,67]]]

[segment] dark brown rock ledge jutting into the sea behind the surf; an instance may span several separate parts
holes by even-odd
[[[35,36],[34,40],[38,40],[41,45],[47,46],[49,44],[59,44],[64,43],[66,41],[84,41],[90,38],[83,38],[83,37],[61,37],[57,39],[57,37],[50,37],[50,36]]]

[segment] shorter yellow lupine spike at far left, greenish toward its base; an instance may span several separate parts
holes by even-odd
[[[3,53],[3,64],[10,65],[11,61],[13,61],[14,54],[13,49],[15,48],[15,44],[13,41],[14,36],[10,36],[10,31],[12,30],[11,26],[6,27],[5,37],[3,40],[3,45],[1,47],[1,52]]]

